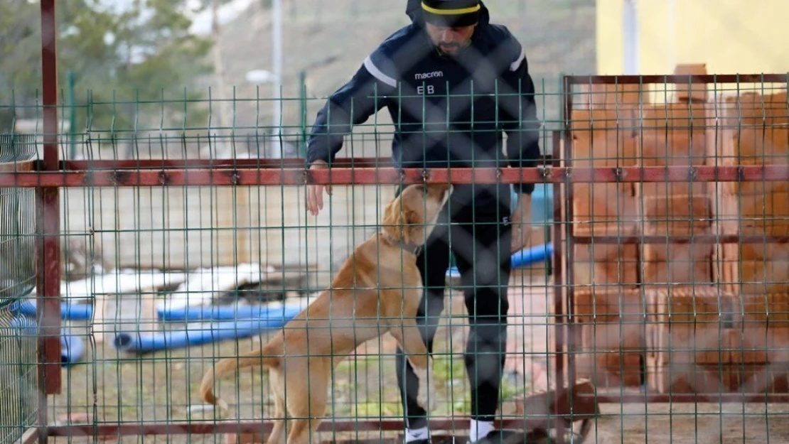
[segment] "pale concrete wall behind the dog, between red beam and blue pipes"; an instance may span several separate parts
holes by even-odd
[[[315,218],[298,186],[64,189],[62,228],[95,231],[118,267],[257,262],[329,271],[375,229],[393,195],[392,186],[335,186]]]

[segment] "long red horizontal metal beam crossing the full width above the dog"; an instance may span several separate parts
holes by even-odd
[[[547,184],[664,183],[664,182],[783,182],[789,165],[769,166],[629,166],[626,168],[302,168],[200,170],[83,170],[65,172],[0,173],[3,187],[115,187],[222,185],[376,185],[398,183]]]

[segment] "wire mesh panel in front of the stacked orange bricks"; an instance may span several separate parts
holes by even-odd
[[[613,179],[567,188],[570,368],[655,442],[782,437],[787,77],[677,74],[569,80],[564,159]]]

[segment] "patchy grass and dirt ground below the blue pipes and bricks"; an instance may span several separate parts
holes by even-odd
[[[529,282],[510,295],[510,353],[503,387],[503,415],[514,413],[512,398],[542,390],[553,376],[546,371],[548,341],[552,340],[546,313],[552,303],[546,282]],[[524,293],[525,292],[525,293]],[[465,346],[465,308],[462,297],[448,298],[444,326],[436,338],[436,388],[441,401],[436,416],[469,411],[468,382],[462,364]],[[139,322],[127,305],[116,310],[124,319]],[[137,315],[139,316],[139,315]],[[182,325],[169,328],[178,329]],[[84,326],[72,325],[73,332]],[[118,353],[111,343],[86,341],[82,363],[62,371],[62,394],[52,398],[50,418],[58,423],[140,423],[189,420],[189,405],[202,404],[197,389],[211,363],[222,356],[251,349],[260,338],[171,349],[143,356]],[[388,336],[369,343],[335,370],[328,416],[339,420],[398,419],[402,415],[394,375],[394,345]],[[454,353],[448,353],[453,351]],[[515,354],[517,353],[517,354]],[[259,369],[241,371],[237,379],[222,381],[219,396],[230,405],[230,421],[260,420],[271,415],[267,375]],[[214,420],[211,413],[192,420]],[[458,431],[462,433],[462,431]],[[374,434],[374,437],[380,434]],[[327,437],[329,438],[329,437]],[[104,437],[107,442],[223,442],[221,436],[175,435]],[[55,438],[54,442],[92,442],[92,437]],[[789,405],[602,405],[586,442],[789,442]]]

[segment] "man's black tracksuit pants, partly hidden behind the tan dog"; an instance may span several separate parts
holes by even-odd
[[[471,203],[460,208],[447,205],[417,257],[424,284],[417,323],[432,353],[438,319],[444,308],[450,251],[454,253],[469,313],[470,331],[464,357],[471,387],[471,417],[480,421],[494,420],[507,350],[507,284],[512,237],[509,216],[510,206],[503,203]],[[447,224],[450,220],[451,226]],[[425,427],[425,411],[417,404],[419,381],[399,348],[396,363],[406,426]]]

